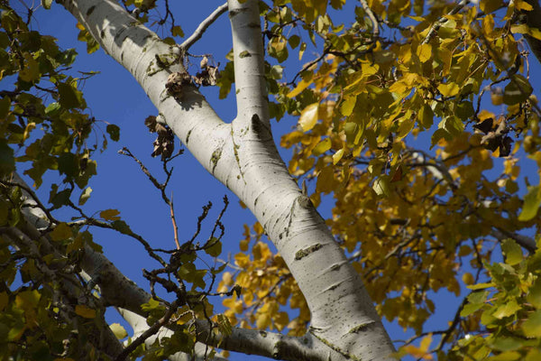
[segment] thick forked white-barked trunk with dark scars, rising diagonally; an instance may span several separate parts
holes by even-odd
[[[389,359],[393,351],[390,338],[360,276],[298,189],[274,146],[257,2],[229,1],[238,108],[231,124],[216,116],[194,87],[185,87],[178,99],[167,94],[166,79],[181,64],[160,69],[157,58],[174,60],[175,48],[136,23],[121,6],[111,0],[60,3],[133,74],[206,170],[252,210],[307,299],[312,315],[310,335],[327,346],[325,357]]]

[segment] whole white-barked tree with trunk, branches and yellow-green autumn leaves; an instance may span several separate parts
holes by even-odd
[[[204,208],[194,237],[181,244],[176,236],[174,250],[155,249],[115,209],[88,216],[92,156],[105,144],[89,145],[98,122],[86,112],[81,79],[66,69],[76,54],[29,30],[32,12],[24,21],[2,2],[2,74],[14,76],[0,100],[5,356],[226,356],[211,351],[216,347],[290,360],[391,359],[394,347],[378,312],[414,329],[410,342],[422,338],[395,356],[539,356],[539,251],[531,235],[538,232],[541,194],[529,186],[521,200],[517,181],[524,153],[540,163],[539,108],[520,35],[539,58],[536,2],[362,0],[353,6],[353,23],[338,25],[333,11],[345,1],[331,0],[331,10],[319,0],[230,0],[180,44],[174,37],[184,34],[167,1],[59,3],[78,19],[88,51],[100,47],[122,64],[158,109],[145,125],[157,134],[152,155],[160,156],[167,180],[160,183],[130,150],[122,153],[160,191],[175,229],[165,191],[175,136],[258,222],[246,226],[231,272],[226,264],[197,262],[202,254],[221,254],[223,212],[210,236],[197,241]],[[151,23],[155,10],[165,15]],[[190,47],[225,11],[230,61],[218,75],[207,55],[190,74]],[[167,25],[172,37],[161,39],[152,25]],[[289,50],[298,49],[301,58],[311,46],[319,55],[283,81]],[[200,87],[218,86],[226,97],[233,83],[237,116],[225,123]],[[498,115],[481,108],[489,106],[483,97],[489,94]],[[281,140],[294,148],[289,167],[271,132],[271,118],[286,113],[299,116],[298,128]],[[116,125],[105,130],[118,140]],[[423,134],[430,135],[430,149],[416,140]],[[498,157],[505,159],[503,171],[494,177]],[[24,162],[32,162],[24,174],[35,188],[46,171],[59,172],[50,206],[14,173]],[[301,190],[294,177],[316,180],[315,187]],[[335,206],[325,221],[316,207],[329,193]],[[75,209],[77,218],[60,220],[60,208]],[[93,227],[144,245],[160,264],[143,270],[150,292],[106,259]],[[494,242],[504,262],[492,259]],[[460,294],[461,278],[471,292],[449,328],[424,331],[434,292],[445,287]],[[227,296],[223,314],[213,312],[217,295]],[[298,317],[289,319],[286,304]],[[107,327],[108,307],[133,327],[128,346],[117,340],[124,329]],[[430,348],[433,335],[440,338]]]

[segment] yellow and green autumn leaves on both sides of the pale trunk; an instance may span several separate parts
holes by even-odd
[[[51,187],[50,211],[82,208],[96,174],[92,155],[107,137],[118,140],[119,128],[96,130],[81,79],[64,74],[75,52],[61,50],[0,3],[0,77],[15,79],[0,91],[0,174],[30,164],[24,173],[39,188],[46,171],[56,172],[62,181]],[[147,24],[162,6],[123,3],[141,9],[139,20]],[[314,205],[331,204],[326,223],[381,318],[414,335],[397,343],[397,357],[540,359],[536,1],[273,0],[260,8],[271,116],[294,125],[280,139],[291,150],[289,171],[305,182]],[[79,40],[96,51],[84,27],[79,30]],[[184,35],[176,23],[166,30],[168,42]],[[220,97],[234,82],[228,59],[217,79]],[[99,142],[88,145],[96,134]],[[0,344],[13,351],[18,342],[39,339],[60,355],[72,329],[105,320],[97,305],[54,309],[54,292],[41,285],[61,280],[41,279],[41,263],[68,267],[85,245],[99,246],[86,228],[59,221],[46,233],[61,255],[42,259],[30,245],[22,255],[5,229],[22,227],[23,190],[11,180],[1,185],[0,227],[8,236],[0,232]],[[99,213],[93,226],[137,237],[115,209]],[[205,300],[193,314],[183,310],[186,319],[212,318],[223,329],[307,332],[307,302],[259,223],[244,226],[240,252],[228,267],[197,268],[197,251],[219,256],[220,238],[198,249],[194,244],[179,270],[197,297],[211,293],[205,277],[221,279],[216,292],[225,295],[226,318],[213,316]],[[17,274],[40,287],[16,286]],[[230,292],[235,285],[243,297]],[[453,310],[438,309],[437,292],[444,290],[456,297]],[[445,329],[426,328],[434,315],[448,320]]]

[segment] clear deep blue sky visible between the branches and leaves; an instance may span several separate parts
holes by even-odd
[[[184,1],[177,8],[173,8],[177,23],[189,35],[221,1]],[[347,13],[345,13],[347,14]],[[351,15],[351,12],[349,13]],[[150,134],[143,124],[146,116],[156,115],[157,111],[146,97],[142,88],[132,76],[115,60],[109,58],[104,51],[87,54],[86,44],[77,41],[78,30],[74,18],[60,5],[53,4],[50,11],[40,9],[36,14],[33,30],[50,34],[58,38],[60,46],[76,48],[78,60],[74,64],[74,71],[100,71],[98,75],[84,83],[84,94],[91,114],[102,120],[102,130],[105,132],[107,123],[119,125],[121,137],[118,143],[109,142],[105,153],[96,154],[98,163],[97,176],[90,182],[93,192],[85,208],[91,214],[106,208],[115,208],[121,212],[121,217],[132,227],[133,231],[144,236],[151,245],[160,248],[173,248],[173,231],[170,222],[169,208],[160,199],[160,193],[151,187],[151,183],[140,171],[139,166],[128,157],[116,153],[119,149],[128,147],[153,174],[163,180],[161,163],[152,159],[152,142],[154,134]],[[159,35],[163,35],[158,32]],[[225,54],[232,47],[229,20],[226,14],[222,15],[213,24],[203,39],[190,50],[194,54],[212,53],[216,62],[225,63]],[[294,52],[291,52],[295,58]],[[309,54],[307,54],[309,55]],[[306,59],[308,59],[306,57]],[[531,58],[534,74],[539,74],[536,60]],[[198,60],[194,60],[194,69],[197,69]],[[536,84],[534,84],[536,86]],[[538,94],[538,89],[535,89]],[[230,121],[235,115],[235,105],[232,97],[220,100],[216,88],[205,88],[209,103],[225,121]],[[541,98],[541,97],[540,97]],[[280,142],[280,134],[288,132],[296,125],[296,119],[286,117],[280,123],[273,122],[275,139]],[[280,147],[279,147],[280,148]],[[179,143],[177,143],[179,149]],[[282,157],[287,161],[289,151],[280,149]],[[208,218],[208,225],[219,213],[222,198],[227,195],[230,206],[225,214],[224,224],[226,234],[224,238],[225,255],[238,252],[238,241],[243,238],[243,224],[251,225],[254,221],[252,214],[239,206],[236,197],[215,180],[201,165],[189,154],[177,158],[172,162],[175,168],[170,182],[176,206],[176,218],[179,226],[179,237],[188,239],[196,229],[197,217],[201,208],[210,200],[215,204]],[[54,180],[56,174],[50,174],[46,179]],[[49,188],[47,184],[41,187],[40,194],[48,199]],[[171,193],[170,193],[171,194]],[[324,218],[330,216],[330,202],[327,201],[319,208]],[[67,215],[66,215],[67,216]],[[147,288],[147,282],[142,278],[142,268],[152,267],[151,258],[146,255],[141,245],[133,239],[119,236],[114,232],[101,229],[94,231],[95,240],[104,246],[105,255],[113,261],[126,276]],[[225,258],[225,256],[223,256]],[[436,310],[444,310],[445,318],[431,319],[427,326],[436,329],[445,328],[449,313],[454,314],[458,303],[453,295],[440,292],[436,296]],[[219,305],[219,301],[215,302]],[[219,310],[219,309],[217,309]],[[118,321],[115,315],[111,319]],[[388,325],[391,338],[406,338],[399,327]],[[234,358],[233,358],[234,359]],[[236,359],[244,359],[239,357]]]

